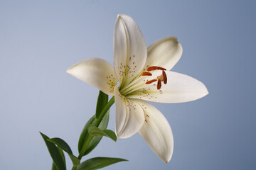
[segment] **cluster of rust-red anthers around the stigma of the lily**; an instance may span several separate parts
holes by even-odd
[[[146,69],[147,72],[142,72],[142,76],[151,76],[152,74],[150,73],[151,71],[154,70],[162,70],[162,74],[156,79],[151,79],[149,81],[146,81],[146,84],[151,84],[155,81],[157,81],[157,89],[161,89],[161,81],[164,81],[164,84],[167,84],[167,77],[166,77],[166,72],[164,72],[166,69],[163,67],[158,67],[158,66],[151,66]]]

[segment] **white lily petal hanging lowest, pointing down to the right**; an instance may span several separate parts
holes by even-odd
[[[134,101],[142,106],[146,115],[146,122],[139,130],[139,135],[143,137],[157,156],[165,163],[169,162],[174,152],[174,136],[168,121],[159,110],[146,101]]]

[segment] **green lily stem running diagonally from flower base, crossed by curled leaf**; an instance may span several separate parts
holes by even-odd
[[[95,125],[96,127],[98,127],[98,125],[100,125],[100,122],[102,121],[102,118],[104,118],[105,114],[107,113],[107,111],[110,109],[110,107],[114,104],[114,96],[110,99],[110,101],[107,103],[107,105],[105,106],[105,108],[103,108],[103,110],[100,113],[100,117],[97,118],[97,120],[95,121],[95,123],[92,123],[92,125]],[[78,159],[82,159],[83,155],[85,154],[85,151],[87,149],[87,147],[89,146],[92,137],[87,133],[87,135],[85,136],[85,139],[87,139],[85,141],[85,145],[82,146],[82,150],[78,156]]]

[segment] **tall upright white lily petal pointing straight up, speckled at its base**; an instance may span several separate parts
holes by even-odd
[[[146,42],[137,23],[127,15],[118,15],[114,26],[114,71],[121,86],[142,71],[146,54]]]

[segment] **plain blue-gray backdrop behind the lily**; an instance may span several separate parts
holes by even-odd
[[[242,0],[0,1],[0,169],[50,169],[38,131],[78,154],[98,90],[65,70],[88,57],[113,62],[118,13],[137,21],[147,45],[178,37],[183,56],[173,70],[203,81],[210,94],[154,104],[174,132],[169,164],[138,134],[104,138],[90,157],[129,159],[105,169],[256,169],[255,8]]]

